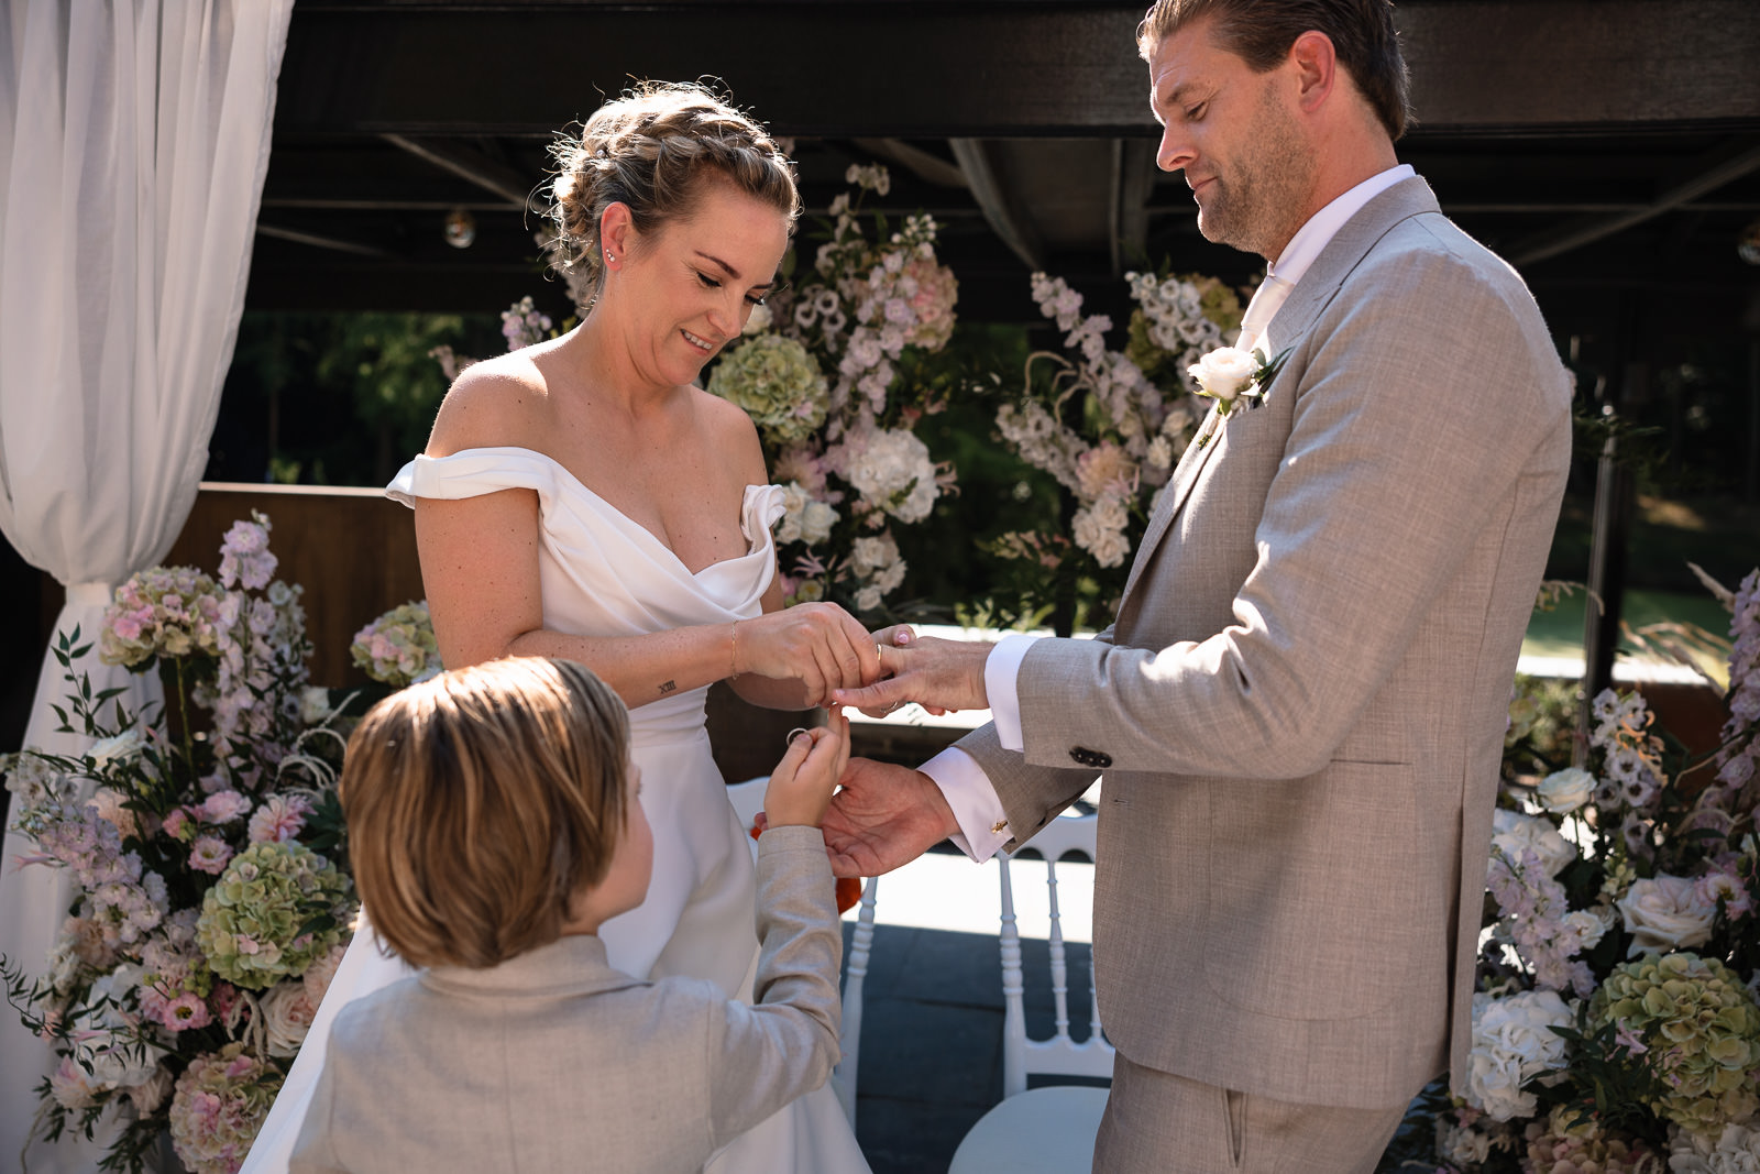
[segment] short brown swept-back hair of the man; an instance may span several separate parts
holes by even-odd
[[[1397,141],[1413,121],[1412,74],[1390,0],[1155,0],[1137,26],[1137,49],[1149,60],[1167,37],[1206,16],[1216,21],[1216,44],[1257,72],[1281,63],[1304,32],[1325,33],[1389,137]]]

